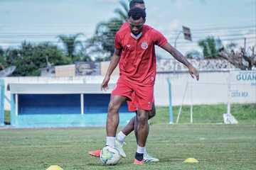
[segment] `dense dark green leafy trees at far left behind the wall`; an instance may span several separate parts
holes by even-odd
[[[18,49],[6,50],[6,63],[16,66],[13,76],[39,76],[40,69],[47,66],[46,57],[53,65],[70,64],[57,45],[43,42],[35,45],[31,42],[22,42]]]

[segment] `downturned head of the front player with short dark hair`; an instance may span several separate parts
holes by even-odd
[[[146,12],[142,8],[132,8],[128,13],[128,22],[131,32],[138,35],[142,32],[143,25],[146,21]]]

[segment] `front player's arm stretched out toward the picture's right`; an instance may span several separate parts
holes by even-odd
[[[188,67],[189,74],[191,74],[191,77],[194,78],[194,76],[195,76],[196,80],[199,80],[199,73],[198,73],[197,69],[195,67],[193,67],[193,65],[190,62],[188,62],[188,60],[186,60],[186,57],[184,57],[181,54],[181,52],[179,52],[178,50],[176,50],[176,48],[171,46],[169,44],[169,42],[167,42],[165,45],[161,45],[161,47],[164,50],[166,50],[167,52],[169,52],[172,56],[174,56],[174,58],[176,60],[178,60],[178,62],[181,62],[184,65],[186,65],[186,67]]]

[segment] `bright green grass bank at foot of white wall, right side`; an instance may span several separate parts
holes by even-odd
[[[179,106],[173,108],[174,123],[178,115]],[[227,106],[219,105],[201,105],[193,106],[193,123],[196,124],[216,124],[223,123],[223,113],[227,112]],[[231,105],[231,113],[235,116],[240,124],[256,124],[256,103],[254,104],[233,104]],[[152,124],[168,124],[169,108],[156,108],[156,116],[151,120]],[[190,123],[190,106],[183,106],[181,124]]]

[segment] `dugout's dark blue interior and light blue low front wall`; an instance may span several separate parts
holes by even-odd
[[[60,128],[105,126],[110,94],[84,94],[81,114],[80,94],[19,94],[18,115],[15,95],[11,95],[11,125],[16,128]],[[119,125],[134,116],[127,103],[119,110]]]

